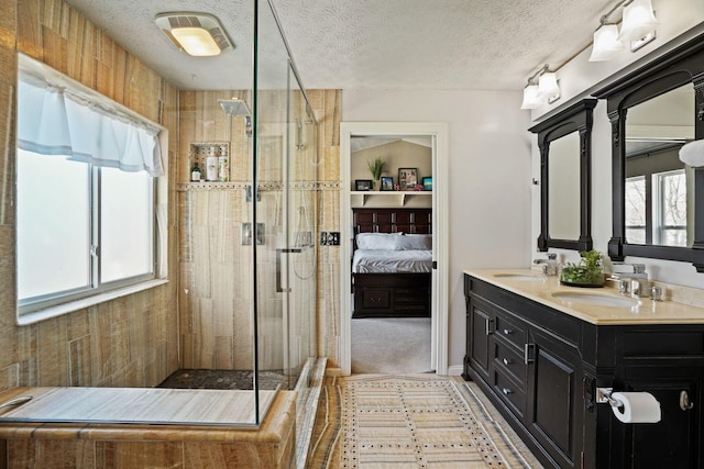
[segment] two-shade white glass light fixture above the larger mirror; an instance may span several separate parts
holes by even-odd
[[[609,21],[619,7],[624,7],[620,32],[616,23]],[[610,60],[625,48],[624,43],[634,42],[630,49],[636,52],[654,38],[658,26],[651,0],[622,0],[601,18],[600,23],[594,32],[590,62]]]

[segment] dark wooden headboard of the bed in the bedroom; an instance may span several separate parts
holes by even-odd
[[[432,209],[352,209],[354,234],[432,233]]]

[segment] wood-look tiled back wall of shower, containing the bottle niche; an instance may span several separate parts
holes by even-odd
[[[340,231],[340,104],[337,90],[308,91],[318,129],[318,230]],[[179,185],[179,305],[184,368],[250,369],[252,367],[252,253],[243,246],[241,223],[251,222],[251,203],[244,188],[251,172],[251,138],[245,135],[244,120],[230,118],[217,104],[218,99],[238,97],[251,102],[246,91],[182,91],[180,93],[180,159],[179,181],[189,178],[193,161],[188,158],[191,143],[230,143],[230,181],[210,185]],[[263,124],[264,125],[264,124]],[[280,168],[267,168],[266,145],[279,145],[263,139],[260,145],[258,175],[280,174]],[[264,185],[266,186],[266,185]],[[309,197],[309,191],[302,191]],[[277,198],[276,188],[264,188],[262,198]],[[295,206],[298,203],[294,203]],[[310,204],[311,205],[311,204]],[[309,206],[310,206],[309,205]],[[264,242],[277,245],[282,235],[275,200],[263,200],[260,220],[265,223]],[[314,241],[319,234],[314,234]],[[337,366],[340,248],[321,246],[318,250],[318,356],[330,358]],[[280,294],[266,294],[273,289],[274,259],[260,259],[261,308],[260,354],[263,369],[280,368],[283,346]],[[264,298],[265,300],[262,300]]]

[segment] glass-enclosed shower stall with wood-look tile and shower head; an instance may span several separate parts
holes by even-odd
[[[251,391],[244,425],[320,370],[317,123],[274,7],[254,7],[252,82],[180,93],[182,174],[206,180],[177,193],[183,369],[162,384]]]

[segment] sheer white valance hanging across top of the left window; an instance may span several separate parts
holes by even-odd
[[[44,155],[123,171],[164,174],[160,130],[81,92],[56,70],[21,56],[18,85],[18,146]],[[23,65],[26,65],[23,67]],[[103,101],[105,100],[105,101]],[[101,102],[103,101],[103,102]]]

